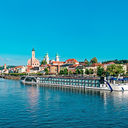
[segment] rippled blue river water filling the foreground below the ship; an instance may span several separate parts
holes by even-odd
[[[128,127],[128,92],[23,85],[0,79],[0,128]]]

